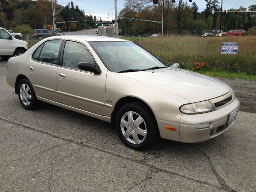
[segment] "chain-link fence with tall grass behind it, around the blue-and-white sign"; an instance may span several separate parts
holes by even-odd
[[[168,65],[188,70],[216,70],[256,75],[256,36],[202,37],[192,35],[122,36],[139,44]],[[237,54],[222,54],[223,42],[238,43]]]

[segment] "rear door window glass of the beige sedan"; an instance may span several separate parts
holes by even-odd
[[[50,40],[44,43],[39,56],[39,61],[58,65],[58,54],[62,40]]]

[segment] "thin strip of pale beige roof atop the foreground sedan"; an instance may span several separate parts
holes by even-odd
[[[46,39],[80,39],[86,40],[88,42],[94,41],[122,41],[122,42],[130,42],[125,39],[114,38],[114,37],[105,37],[105,36],[96,36],[96,35],[63,35],[63,36],[52,36]]]

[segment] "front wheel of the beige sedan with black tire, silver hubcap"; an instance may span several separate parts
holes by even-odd
[[[128,120],[128,115],[126,116],[127,113],[132,114],[132,121]],[[140,125],[135,124],[134,122],[134,120],[137,119],[136,116],[137,118],[138,116],[141,116],[143,119],[143,122]],[[127,122],[126,126],[121,126],[122,118]],[[134,122],[134,124],[131,124],[131,122]],[[141,127],[140,129],[139,126]],[[125,104],[118,110],[116,115],[116,129],[118,136],[122,140],[122,142],[126,146],[135,150],[145,150],[146,148],[152,146],[159,138],[158,125],[156,123],[154,114],[148,108],[148,106],[140,104],[139,102]],[[140,133],[141,129],[144,131],[146,130],[146,136],[138,134]],[[127,136],[128,138],[124,136],[124,134],[126,134],[126,131],[127,135],[130,135],[129,137]],[[132,143],[135,142],[135,137],[137,137],[137,141],[141,142],[138,142],[138,144]]]

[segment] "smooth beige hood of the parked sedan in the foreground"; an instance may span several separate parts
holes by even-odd
[[[192,103],[216,98],[231,90],[228,84],[215,78],[172,67],[118,74],[172,92]]]

